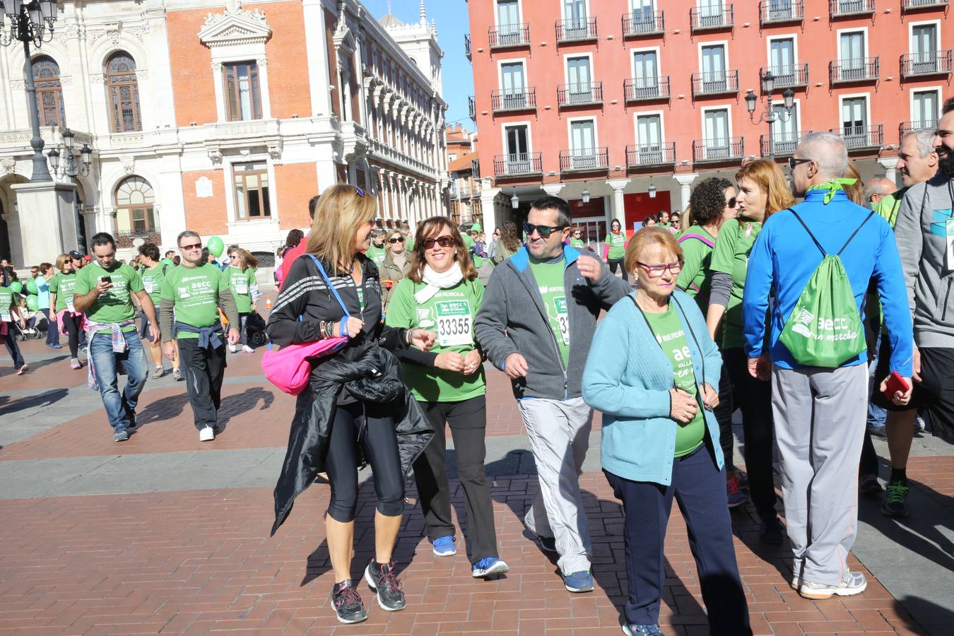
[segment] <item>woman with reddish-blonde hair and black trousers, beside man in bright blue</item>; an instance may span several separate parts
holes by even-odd
[[[749,494],[761,521],[759,539],[782,542],[772,477],[772,386],[749,375],[742,348],[742,295],[749,253],[762,223],[795,204],[785,174],[771,159],[757,159],[736,173],[738,216],[722,224],[713,249],[712,291],[706,324],[716,339],[722,329],[722,359],[732,383],[733,402],[742,411]],[[724,318],[724,319],[723,319]]]

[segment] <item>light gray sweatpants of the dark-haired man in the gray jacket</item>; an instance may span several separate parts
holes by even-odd
[[[590,569],[590,531],[580,495],[580,473],[590,447],[592,409],[583,398],[517,402],[527,426],[540,491],[524,523],[530,532],[553,537],[564,574]]]

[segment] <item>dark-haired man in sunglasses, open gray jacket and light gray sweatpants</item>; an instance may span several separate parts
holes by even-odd
[[[559,553],[566,588],[588,592],[591,544],[579,474],[592,409],[580,380],[600,310],[630,288],[599,259],[565,245],[571,222],[563,199],[533,202],[526,244],[494,270],[474,330],[512,382],[536,461],[540,492],[524,521],[544,550]]]

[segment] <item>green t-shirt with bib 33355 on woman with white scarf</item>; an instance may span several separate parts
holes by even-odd
[[[414,299],[414,293],[424,287],[424,283],[403,278],[394,288],[394,294],[387,304],[384,324],[433,331],[437,334],[434,348],[431,349],[433,353],[453,351],[467,354],[475,346],[473,321],[484,300],[484,285],[480,280],[462,280],[419,304]],[[415,400],[461,401],[487,392],[483,366],[477,373],[465,376],[455,371],[407,363],[402,365],[401,374]]]

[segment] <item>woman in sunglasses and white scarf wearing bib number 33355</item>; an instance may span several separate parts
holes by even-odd
[[[467,506],[467,559],[474,578],[508,570],[497,552],[493,506],[484,472],[487,450],[487,385],[473,319],[484,299],[484,285],[453,222],[433,216],[418,225],[410,271],[398,283],[385,324],[437,332],[429,353],[407,350],[401,357],[404,383],[437,431],[417,462],[417,482],[434,554],[456,554],[445,465],[445,426],[457,450],[457,470]]]

